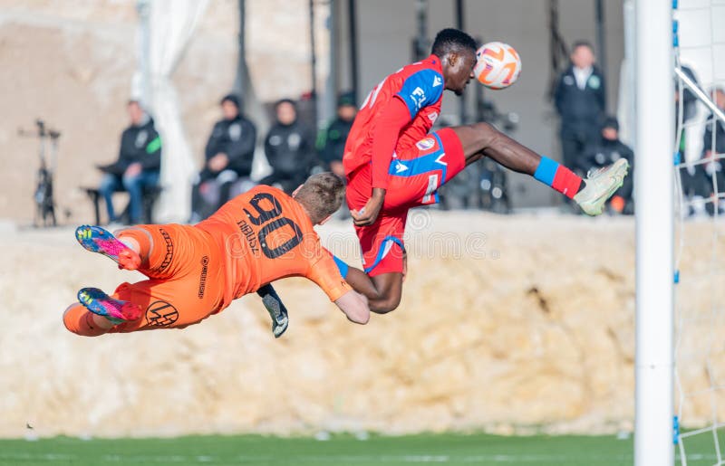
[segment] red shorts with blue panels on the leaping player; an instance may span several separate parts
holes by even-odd
[[[415,146],[392,157],[385,204],[377,220],[370,226],[355,227],[366,273],[375,276],[402,271],[408,210],[436,204],[438,188],[465,167],[463,147],[456,132],[450,128],[430,133]],[[347,204],[350,209],[359,210],[371,195],[372,169],[367,164],[348,176]]]

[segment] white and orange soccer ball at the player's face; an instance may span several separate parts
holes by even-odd
[[[521,59],[507,43],[484,43],[476,51],[473,74],[490,89],[504,89],[517,81],[521,74]]]

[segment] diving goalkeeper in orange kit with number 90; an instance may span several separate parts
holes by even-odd
[[[86,250],[111,258],[121,269],[138,270],[148,280],[121,283],[110,295],[83,288],[79,302],[65,310],[63,323],[85,337],[185,328],[247,293],[274,293],[267,285],[272,281],[301,276],[323,289],[347,319],[365,324],[367,300],[344,281],[314,233],[314,225],[330,218],[343,197],[343,182],[321,173],[292,196],[256,186],[193,226],[138,225],[115,236],[81,226],[76,238]],[[277,324],[284,331],[286,325]]]

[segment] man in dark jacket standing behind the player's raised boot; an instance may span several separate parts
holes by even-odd
[[[584,148],[599,138],[606,109],[604,76],[594,65],[594,49],[586,42],[574,44],[571,66],[559,77],[554,94],[561,117],[561,147],[565,166],[578,166]]]

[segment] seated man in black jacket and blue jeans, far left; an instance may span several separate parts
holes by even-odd
[[[140,223],[143,214],[143,189],[159,184],[161,138],[153,119],[136,100],[127,105],[131,126],[121,134],[119,159],[107,166],[99,191],[106,201],[109,223],[117,222],[111,196],[116,191],[129,192],[129,221]]]

